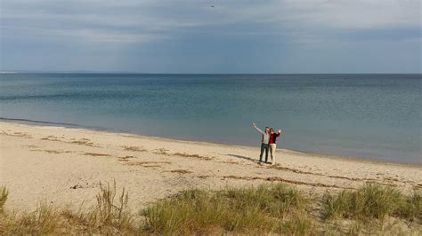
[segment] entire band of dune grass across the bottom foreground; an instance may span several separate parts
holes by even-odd
[[[2,186],[0,234],[418,234],[422,215],[417,190],[406,195],[375,184],[322,198],[282,184],[188,190],[151,203],[140,215],[116,183],[101,185],[96,204],[77,211],[45,202],[32,212],[8,211],[7,196]],[[386,224],[386,216],[402,224]]]

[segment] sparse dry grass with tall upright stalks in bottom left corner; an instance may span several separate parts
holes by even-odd
[[[0,234],[60,234],[134,232],[134,215],[127,207],[125,189],[117,197],[116,183],[100,185],[93,208],[77,211],[40,202],[31,212],[3,212]]]

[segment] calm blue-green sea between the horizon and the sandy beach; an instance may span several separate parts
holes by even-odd
[[[422,163],[421,75],[1,74],[0,116]]]

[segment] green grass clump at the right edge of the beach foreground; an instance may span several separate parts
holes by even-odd
[[[337,195],[326,193],[323,197],[327,218],[352,218],[360,220],[397,216],[420,220],[421,196],[417,190],[406,196],[391,186],[366,184],[356,191],[345,190]]]

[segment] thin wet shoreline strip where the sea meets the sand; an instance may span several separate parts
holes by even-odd
[[[18,119],[18,118],[5,118],[5,117],[0,117],[0,122],[35,125],[35,126],[40,126],[40,127],[46,126],[46,127],[58,127],[58,128],[66,128],[66,129],[92,130],[92,131],[106,132],[106,133],[112,133],[112,134],[132,135],[134,137],[139,137],[139,138],[160,138],[163,140],[181,141],[181,142],[188,142],[188,143],[195,143],[195,144],[253,147],[253,148],[256,147],[256,146],[239,145],[239,144],[231,144],[231,143],[218,143],[218,142],[209,142],[209,141],[203,141],[203,140],[192,140],[189,138],[150,136],[150,135],[143,135],[143,134],[134,133],[134,132],[126,131],[126,130],[115,130],[112,128],[103,128],[103,127],[89,127],[89,126],[76,124],[76,123],[45,122],[45,121]],[[402,161],[384,160],[381,158],[370,157],[370,156],[348,156],[348,155],[337,155],[337,154],[330,154],[330,153],[316,153],[312,151],[303,151],[303,150],[288,149],[288,148],[278,148],[278,149],[286,150],[288,152],[295,152],[298,154],[311,154],[313,156],[318,156],[322,158],[345,159],[349,161],[363,161],[363,162],[381,163],[381,164],[384,163],[384,164],[403,165],[403,166],[417,167],[417,168],[422,167],[422,162],[402,162]]]

